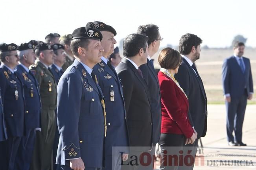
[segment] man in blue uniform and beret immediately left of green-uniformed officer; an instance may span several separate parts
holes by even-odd
[[[18,47],[20,64],[15,68],[15,73],[22,81],[25,97],[25,136],[22,137],[18,148],[19,159],[16,159],[15,168],[29,170],[34,149],[36,130],[41,127],[41,98],[39,85],[29,71],[29,66],[35,62],[35,53],[32,43],[22,43]]]

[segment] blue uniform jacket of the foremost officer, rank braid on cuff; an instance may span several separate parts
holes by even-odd
[[[69,165],[69,159],[81,157],[85,167],[101,168],[104,162],[104,116],[99,85],[75,60],[61,77],[57,93],[60,139],[56,163]]]

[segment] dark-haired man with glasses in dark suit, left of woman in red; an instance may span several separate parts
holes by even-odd
[[[153,60],[151,57],[155,55],[160,46],[160,41],[163,40],[159,33],[159,28],[154,24],[141,25],[138,27],[137,34],[142,34],[148,37],[148,56],[147,63],[140,66],[143,77],[147,83],[147,86],[150,91],[151,99],[151,112],[152,112],[152,121],[153,121],[153,132],[152,139],[153,144],[155,144],[160,139],[160,129],[161,129],[161,97],[160,97],[160,88],[157,75],[155,73]],[[152,149],[152,154],[155,154],[155,149]]]

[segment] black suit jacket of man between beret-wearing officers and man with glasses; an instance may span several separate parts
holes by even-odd
[[[147,85],[125,58],[116,67],[116,72],[123,85],[130,146],[152,146],[153,123]]]

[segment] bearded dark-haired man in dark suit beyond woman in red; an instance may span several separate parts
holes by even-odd
[[[179,52],[182,56],[182,63],[179,71],[175,74],[175,79],[188,97],[189,111],[188,118],[193,127],[197,139],[193,144],[190,139],[186,143],[190,146],[188,150],[193,150],[191,155],[196,155],[198,139],[206,135],[207,129],[207,98],[204,90],[203,81],[195,67],[195,61],[200,58],[201,38],[194,34],[184,34],[180,38]],[[193,169],[193,166],[187,167]]]

